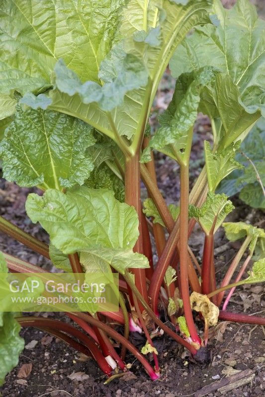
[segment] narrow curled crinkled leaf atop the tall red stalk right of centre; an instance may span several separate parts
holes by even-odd
[[[175,160],[185,157],[186,142],[190,139],[200,103],[200,91],[214,79],[212,67],[182,74],[176,84],[169,108],[161,116],[161,128],[150,139],[141,161],[150,161],[150,150],[156,149]]]

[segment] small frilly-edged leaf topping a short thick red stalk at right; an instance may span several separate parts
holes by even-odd
[[[215,195],[209,192],[201,207],[189,205],[189,216],[198,221],[205,234],[209,234],[212,228],[215,233],[234,208],[226,195]]]

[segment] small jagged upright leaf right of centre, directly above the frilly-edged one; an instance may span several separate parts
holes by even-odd
[[[232,171],[244,168],[235,160],[235,154],[240,146],[240,141],[231,144],[226,149],[212,153],[210,143],[204,141],[205,163],[209,191],[214,192],[219,183]]]

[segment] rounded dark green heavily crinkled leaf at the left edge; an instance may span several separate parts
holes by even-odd
[[[43,190],[82,185],[93,169],[86,150],[94,142],[91,127],[81,120],[18,106],[0,144],[3,177]]]

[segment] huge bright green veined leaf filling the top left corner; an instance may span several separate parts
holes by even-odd
[[[43,92],[51,86],[61,57],[82,81],[98,81],[98,67],[111,48],[123,4],[32,0],[29,6],[27,0],[1,1],[0,92]]]

